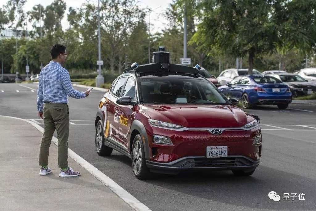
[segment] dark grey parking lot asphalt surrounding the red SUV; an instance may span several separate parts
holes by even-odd
[[[37,117],[36,89],[37,84],[0,84],[0,115],[30,119],[42,125]],[[315,104],[293,103],[283,110],[270,105],[246,110],[260,117],[263,133],[261,162],[250,177],[216,171],[155,174],[150,180],[140,181],[133,175],[129,158],[116,151],[109,157],[100,157],[95,152],[94,118],[103,94],[93,90],[88,98],[69,98],[69,148],[150,209],[315,210]],[[270,191],[281,196],[280,202],[269,200]],[[283,200],[286,194],[294,198]],[[304,194],[305,200],[295,197],[299,194]]]

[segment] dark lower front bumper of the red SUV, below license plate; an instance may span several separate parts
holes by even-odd
[[[246,156],[228,156],[226,158],[206,158],[205,156],[189,156],[168,163],[146,160],[152,172],[177,173],[179,171],[226,171],[248,170],[258,167],[260,159],[253,160]]]

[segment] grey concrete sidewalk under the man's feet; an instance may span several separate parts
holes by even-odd
[[[29,123],[0,117],[0,210],[133,210],[72,158],[78,177],[58,177],[57,146],[51,144],[52,173],[40,176],[42,133]]]

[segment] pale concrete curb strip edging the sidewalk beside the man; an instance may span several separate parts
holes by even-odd
[[[3,116],[3,115],[0,115]],[[44,133],[44,128],[39,126],[38,124],[35,124],[32,121],[29,121],[27,119],[21,119],[18,117],[13,116],[3,116],[3,117],[9,117],[13,119],[18,119],[22,121],[26,121],[30,123],[33,127],[38,129],[41,133]],[[58,146],[58,140],[55,136],[52,137],[52,142]],[[131,195],[129,192],[127,192],[125,189],[123,189],[121,186],[119,186],[118,183],[114,182],[110,177],[106,176],[102,171],[95,168],[92,164],[88,163],[85,159],[80,157],[76,152],[72,151],[68,148],[68,156],[72,159],[74,159],[78,164],[80,164],[83,168],[85,168],[87,171],[90,172],[95,178],[97,178],[101,183],[103,183],[106,187],[108,187],[110,190],[112,190],[116,195],[118,195],[124,202],[126,202],[128,205],[131,206],[131,208],[135,210],[150,210],[146,205],[144,205],[142,202],[138,201],[137,198],[135,198],[133,195]]]

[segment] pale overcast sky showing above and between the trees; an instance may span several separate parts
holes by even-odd
[[[3,4],[6,4],[6,0],[1,0],[0,6]],[[29,11],[33,8],[34,5],[36,4],[42,4],[44,8],[51,4],[53,0],[28,0],[27,3],[24,6],[24,11]],[[65,0],[67,9],[66,13],[64,15],[64,18],[62,20],[62,26],[64,29],[68,28],[68,23],[67,23],[67,13],[69,7],[80,7],[82,3],[86,2],[86,0]],[[97,0],[90,0],[89,2],[93,3],[95,2],[96,4],[98,3]],[[161,29],[165,26],[167,23],[167,20],[163,18],[160,14],[169,6],[169,4],[172,2],[172,0],[139,0],[138,5],[141,8],[151,8],[152,12],[150,13],[150,32],[153,34],[157,31],[161,31]],[[148,13],[146,17],[146,22],[148,22]]]

